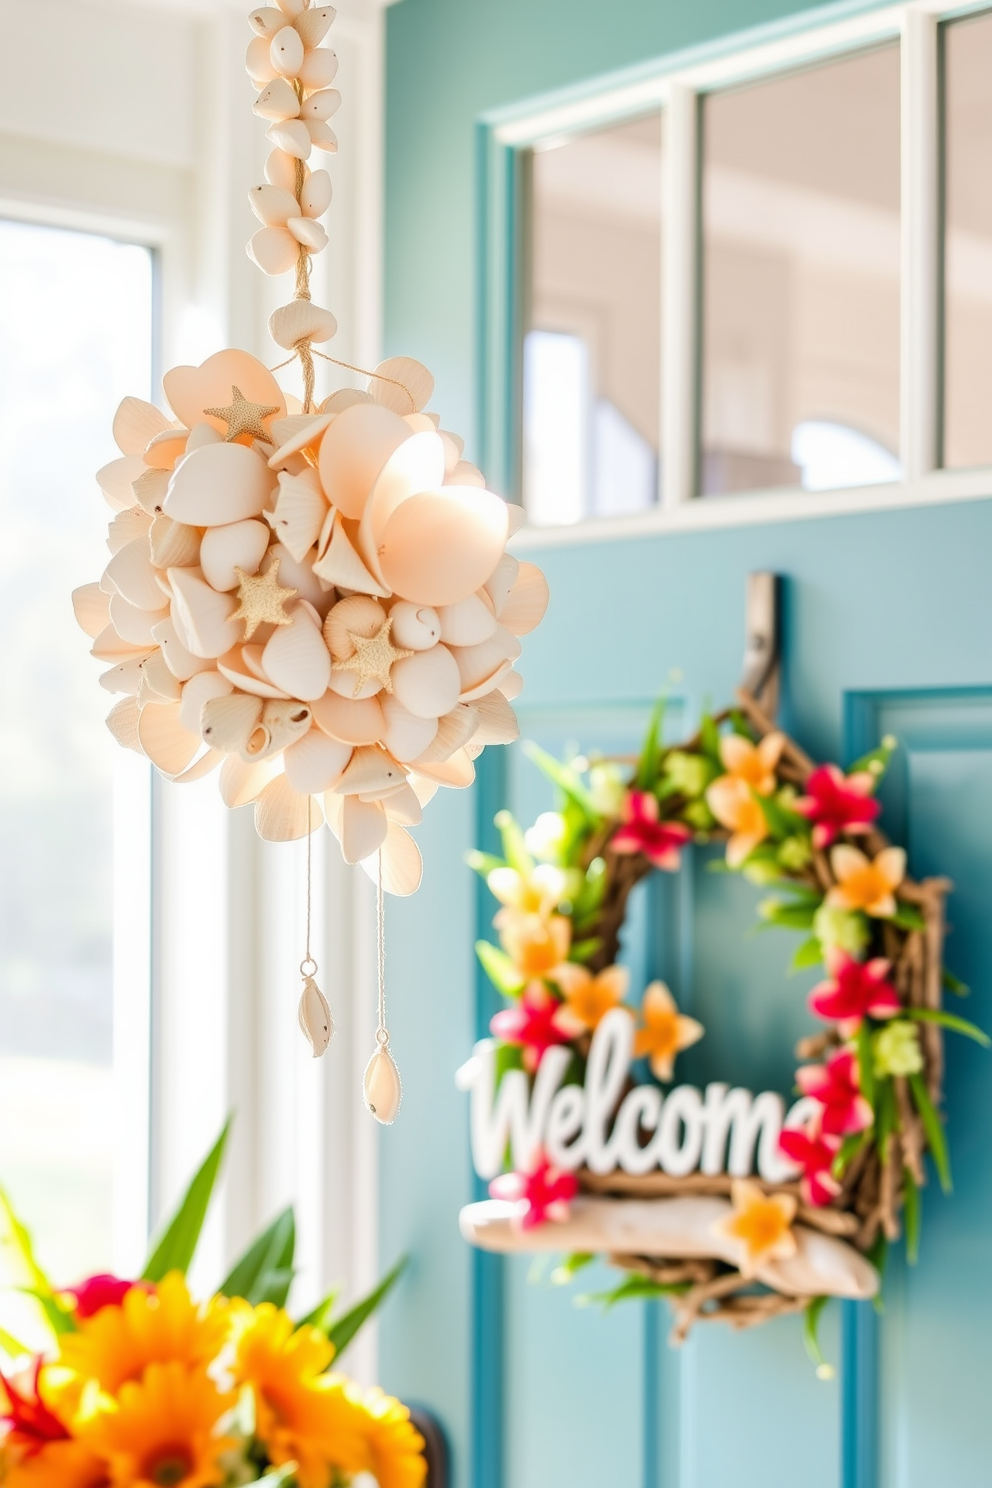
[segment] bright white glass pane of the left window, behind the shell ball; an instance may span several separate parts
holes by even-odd
[[[150,372],[149,250],[0,222],[0,1183],[64,1284],[112,1263],[119,753],[70,592],[107,561],[94,472]]]

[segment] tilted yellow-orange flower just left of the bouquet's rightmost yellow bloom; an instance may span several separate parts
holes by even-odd
[[[366,1467],[366,1415],[347,1382],[324,1370],[333,1348],[315,1327],[294,1327],[263,1302],[238,1339],[233,1378],[256,1397],[256,1433],[274,1466],[297,1463],[299,1488],[327,1488],[329,1470]]]

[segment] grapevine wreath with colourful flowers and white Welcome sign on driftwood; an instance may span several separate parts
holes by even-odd
[[[915,1259],[927,1153],[950,1187],[943,1030],[989,1040],[941,1006],[965,991],[943,967],[950,882],[915,882],[879,830],[895,741],[817,766],[738,699],[678,747],[659,705],[637,762],[531,748],[558,809],[528,832],[501,812],[503,859],[471,854],[500,900],[500,943],[477,951],[506,1007],[460,1071],[492,1180],[461,1228],[492,1250],[568,1251],[559,1277],[605,1254],[626,1272],[608,1299],[665,1295],[675,1342],[696,1321],[806,1312],[818,1359],[824,1302],[876,1296],[901,1234]],[[674,1085],[705,1030],[662,982],[628,1000],[631,891],[690,842],[726,844],[714,866],[767,887],[761,924],[803,934],[793,969],[822,964],[788,1112],[773,1092]]]

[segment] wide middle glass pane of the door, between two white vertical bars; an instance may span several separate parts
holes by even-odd
[[[898,48],[706,98],[702,171],[700,493],[898,479]]]

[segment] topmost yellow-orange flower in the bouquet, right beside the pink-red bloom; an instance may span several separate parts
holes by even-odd
[[[231,1327],[231,1303],[214,1298],[205,1308],[190,1301],[183,1277],[173,1271],[153,1292],[132,1287],[120,1306],[101,1308],[61,1341],[61,1362],[107,1394],[140,1379],[152,1363],[177,1360],[208,1364]]]

